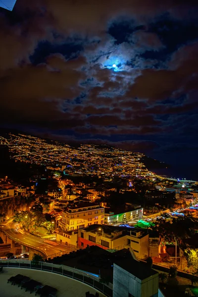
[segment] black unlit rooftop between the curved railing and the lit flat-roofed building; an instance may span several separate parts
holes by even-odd
[[[91,246],[71,254],[56,257],[51,262],[100,274],[101,278],[106,278],[111,283],[113,281],[113,263],[141,280],[157,274],[155,270],[148,267],[146,262],[134,260],[131,252],[126,248],[111,253],[103,248]]]

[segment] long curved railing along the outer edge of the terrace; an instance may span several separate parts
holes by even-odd
[[[112,284],[109,284],[108,286],[106,284],[99,282],[99,275],[94,275],[89,272],[83,272],[81,270],[74,269],[66,265],[57,265],[46,262],[35,263],[34,261],[30,260],[1,260],[0,266],[10,268],[35,269],[60,274],[66,277],[70,277],[79,282],[82,282],[98,290],[107,297],[113,296]]]

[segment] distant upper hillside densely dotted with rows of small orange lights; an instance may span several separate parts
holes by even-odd
[[[93,174],[102,176],[150,176],[141,162],[143,153],[133,153],[106,145],[81,145],[71,148],[58,142],[45,141],[30,135],[10,134],[10,153],[16,161],[39,165],[56,165],[67,174]]]

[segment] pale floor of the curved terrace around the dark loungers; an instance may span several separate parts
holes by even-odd
[[[11,276],[22,274],[31,279],[41,282],[42,285],[48,285],[57,289],[56,297],[85,297],[86,292],[90,291],[95,296],[96,290],[84,283],[73,280],[71,278],[50,273],[46,271],[24,269],[24,268],[7,268],[3,267],[3,273],[0,274],[0,296],[1,297],[27,297],[29,292],[18,288],[18,285],[12,286],[7,284],[7,280]],[[34,296],[34,294],[32,294]],[[105,297],[99,292],[99,297]]]

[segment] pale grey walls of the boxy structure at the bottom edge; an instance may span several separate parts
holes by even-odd
[[[140,280],[131,273],[113,265],[113,297],[157,297],[158,274]]]

